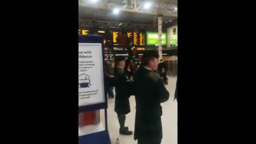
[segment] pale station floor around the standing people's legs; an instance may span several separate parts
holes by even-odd
[[[169,84],[166,85],[167,90],[170,93],[170,98],[168,101],[162,103],[163,115],[162,115],[162,126],[163,126],[163,139],[161,144],[177,144],[178,134],[178,103],[173,101],[174,91],[176,86],[177,77],[169,78]],[[108,99],[108,130],[111,140],[111,144],[115,144],[116,139],[119,138],[122,144],[137,144],[137,141],[133,139],[132,135],[121,135],[119,134],[119,123],[117,115],[114,111],[115,99]],[[125,126],[129,127],[129,130],[134,132],[134,122],[135,122],[135,98],[130,97],[131,112],[126,115]],[[100,117],[104,116],[104,111],[100,111]]]

